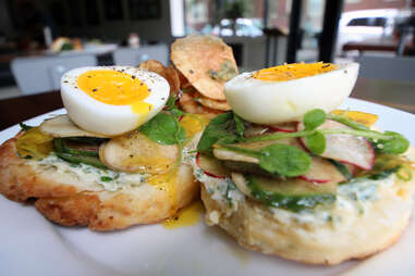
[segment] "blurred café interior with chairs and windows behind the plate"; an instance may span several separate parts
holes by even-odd
[[[167,64],[175,38],[210,34],[241,71],[357,61],[356,97],[415,113],[414,11],[415,0],[1,0],[0,99],[58,90],[77,66]]]

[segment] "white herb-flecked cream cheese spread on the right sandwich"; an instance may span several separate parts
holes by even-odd
[[[232,179],[229,177],[217,178],[205,174],[197,165],[195,154],[187,154],[186,159],[191,161],[194,176],[205,186],[210,198],[228,205],[227,216],[236,212],[240,204],[245,202],[246,196],[235,187]],[[284,224],[293,222],[308,226],[330,225],[330,227],[340,227],[344,224],[352,224],[353,219],[364,216],[374,208],[374,203],[380,199],[380,195],[390,198],[395,197],[396,200],[400,200],[396,192],[393,191],[394,186],[399,185],[395,184],[395,175],[392,174],[381,180],[352,179],[339,185],[337,199],[332,204],[318,205],[314,209],[294,212],[280,208],[267,208],[274,219]]]

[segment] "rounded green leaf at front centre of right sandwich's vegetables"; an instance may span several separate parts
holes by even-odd
[[[293,146],[273,143],[260,150],[259,165],[271,174],[294,177],[309,170],[312,159]]]

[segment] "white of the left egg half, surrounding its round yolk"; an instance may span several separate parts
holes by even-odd
[[[77,78],[87,71],[96,70],[122,71],[144,81],[151,92],[143,101],[152,104],[152,109],[134,113],[131,104],[113,105],[89,97],[78,88]],[[71,120],[85,130],[107,136],[124,134],[149,121],[162,110],[169,91],[169,83],[160,75],[130,66],[81,67],[69,71],[61,78],[62,101]]]

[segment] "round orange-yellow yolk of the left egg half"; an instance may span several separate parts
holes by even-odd
[[[133,104],[150,93],[144,81],[113,70],[87,71],[77,78],[77,86],[95,100],[113,105]],[[142,105],[136,109],[141,110]]]

